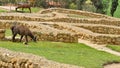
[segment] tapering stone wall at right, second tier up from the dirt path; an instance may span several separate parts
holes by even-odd
[[[90,30],[94,33],[120,35],[120,28],[119,27],[115,28],[115,27],[110,27],[110,26],[97,26],[97,25],[96,26],[81,25],[78,27]]]

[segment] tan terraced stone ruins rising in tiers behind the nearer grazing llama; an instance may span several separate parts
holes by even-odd
[[[102,14],[61,8],[0,14],[1,29],[8,29],[15,21],[30,27],[38,40],[120,44],[120,20]]]

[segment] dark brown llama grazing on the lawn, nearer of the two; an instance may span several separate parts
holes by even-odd
[[[12,31],[12,35],[13,35],[13,36],[12,36],[12,41],[13,41],[13,42],[15,42],[15,36],[16,36],[17,34],[21,35],[20,42],[21,42],[23,36],[25,36],[25,39],[26,39],[25,44],[28,43],[28,38],[27,38],[27,36],[31,37],[32,40],[33,40],[34,42],[36,42],[36,37],[32,34],[32,32],[31,32],[31,31],[29,30],[29,28],[26,27],[26,26],[23,26],[23,25],[13,25],[13,26],[11,27],[11,31]]]

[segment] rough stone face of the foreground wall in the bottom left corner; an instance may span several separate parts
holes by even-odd
[[[0,68],[40,68],[37,63],[0,53]]]

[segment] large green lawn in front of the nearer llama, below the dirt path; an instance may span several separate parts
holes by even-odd
[[[30,42],[26,47],[22,43],[0,41],[0,47],[13,51],[32,53],[61,63],[84,66],[86,68],[102,68],[107,62],[120,61],[120,57],[97,51],[84,44],[60,42]]]

